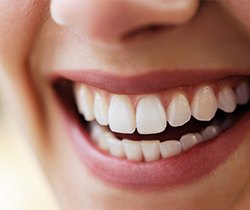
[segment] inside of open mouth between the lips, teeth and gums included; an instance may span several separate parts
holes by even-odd
[[[249,110],[246,77],[143,95],[112,94],[67,80],[55,87],[103,152],[132,161],[179,155],[213,140]]]

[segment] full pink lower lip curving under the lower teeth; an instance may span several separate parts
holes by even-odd
[[[83,164],[94,175],[116,187],[144,191],[187,185],[208,175],[247,139],[250,125],[248,112],[214,140],[201,143],[167,160],[145,163],[117,159],[104,153],[73,116],[65,116],[73,146]]]

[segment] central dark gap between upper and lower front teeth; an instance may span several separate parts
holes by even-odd
[[[203,128],[211,124],[210,121],[202,122],[192,118],[188,123],[181,127],[172,127],[170,125],[167,126],[165,131],[157,134],[149,134],[149,135],[142,135],[139,134],[137,131],[133,134],[123,134],[123,133],[114,133],[115,136],[119,139],[130,139],[130,140],[179,140],[181,136],[187,133],[196,133],[200,132]]]

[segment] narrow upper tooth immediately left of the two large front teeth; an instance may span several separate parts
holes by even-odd
[[[94,116],[100,125],[108,125],[108,102],[106,98],[99,93],[95,94]]]

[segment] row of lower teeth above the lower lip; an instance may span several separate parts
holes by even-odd
[[[212,123],[201,132],[188,133],[179,140],[141,140],[129,139],[119,140],[106,127],[95,122],[90,124],[91,138],[98,147],[112,156],[132,161],[155,161],[166,159],[186,151],[198,143],[208,141],[218,136],[223,130],[229,128],[233,123],[227,118],[223,123]]]

